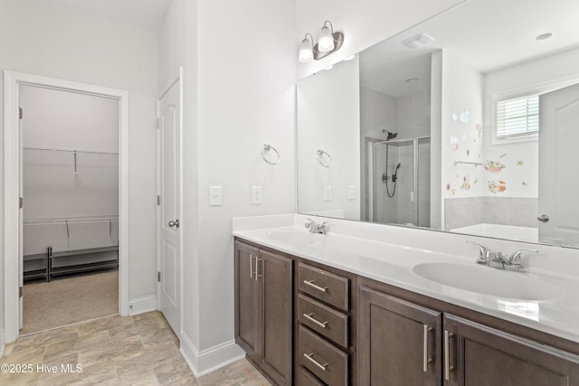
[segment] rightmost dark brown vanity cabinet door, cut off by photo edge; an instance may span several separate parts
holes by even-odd
[[[579,385],[578,355],[454,315],[444,315],[444,340],[447,385]]]

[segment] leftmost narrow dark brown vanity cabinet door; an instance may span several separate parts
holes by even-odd
[[[258,360],[260,338],[260,287],[255,272],[259,249],[235,241],[235,342]]]

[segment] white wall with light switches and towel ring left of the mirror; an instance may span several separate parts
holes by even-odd
[[[159,85],[184,67],[182,350],[189,345],[197,372],[237,353],[227,351],[232,217],[295,211],[295,23],[293,0],[174,0],[159,31]],[[263,49],[248,53],[258,41]],[[278,165],[261,159],[265,144],[280,152]],[[223,205],[209,206],[210,185],[223,186]],[[262,186],[261,204],[251,203],[252,185]]]

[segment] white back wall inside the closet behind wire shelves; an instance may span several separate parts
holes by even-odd
[[[119,100],[22,86],[24,255],[118,245]],[[114,152],[53,152],[31,147]],[[92,223],[31,219],[110,216]],[[112,220],[111,220],[112,219]],[[113,223],[109,224],[109,221]],[[109,230],[114,225],[114,230]]]

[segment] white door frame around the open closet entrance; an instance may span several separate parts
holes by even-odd
[[[128,91],[4,71],[4,326],[5,342],[19,335],[19,125],[21,85],[119,100],[119,314],[128,315]]]

